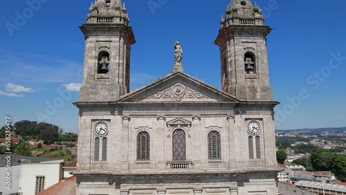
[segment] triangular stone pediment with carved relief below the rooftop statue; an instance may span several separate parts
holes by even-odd
[[[123,95],[118,102],[239,102],[235,97],[185,73],[165,77]]]

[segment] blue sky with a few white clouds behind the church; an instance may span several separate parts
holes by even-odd
[[[35,9],[28,4],[34,1],[39,2]],[[14,122],[38,120],[78,131],[78,109],[72,105],[78,101],[84,57],[78,26],[85,22],[90,3],[2,2],[1,127],[8,115]],[[183,47],[185,73],[220,89],[214,41],[230,0],[125,3],[137,41],[131,50],[131,90],[172,71],[176,39]],[[156,8],[149,6],[155,3]],[[346,1],[257,3],[273,28],[267,46],[270,82],[281,102],[275,109],[276,129],[346,127]]]

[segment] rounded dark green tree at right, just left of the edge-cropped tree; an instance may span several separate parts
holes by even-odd
[[[316,171],[330,171],[333,165],[333,155],[327,150],[319,148],[310,156],[311,165]]]

